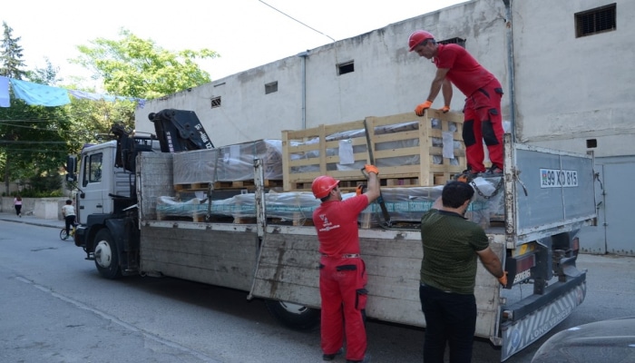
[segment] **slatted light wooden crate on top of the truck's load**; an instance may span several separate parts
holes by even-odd
[[[438,128],[433,127],[433,119],[436,119]],[[441,113],[437,110],[428,110],[423,117],[417,117],[415,113],[366,117],[382,185],[438,185],[463,172],[466,169],[463,121],[463,113]],[[459,145],[454,148],[455,165],[451,164],[449,158],[443,158],[442,146],[433,145],[433,139],[443,140],[443,133],[453,129],[453,142]],[[333,140],[333,135],[345,136]],[[346,135],[350,137],[347,138]],[[352,146],[352,165],[363,167],[368,163],[363,120],[320,125],[307,130],[283,131],[284,190],[310,191],[311,182],[319,175],[330,175],[351,187],[355,183],[365,182],[366,178],[360,167],[352,168],[348,166],[351,164],[344,165],[340,162],[340,142],[348,142]],[[435,163],[435,157],[437,160],[442,158],[443,162]]]

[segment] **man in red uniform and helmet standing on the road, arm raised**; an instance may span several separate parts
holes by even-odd
[[[321,348],[324,360],[342,353],[346,332],[347,362],[369,362],[366,354],[366,264],[359,256],[357,216],[379,197],[379,171],[366,165],[368,189],[342,200],[339,181],[318,176],[313,195],[322,203],[313,212],[318,231],[319,293],[322,299]],[[342,321],[343,320],[343,321]]]

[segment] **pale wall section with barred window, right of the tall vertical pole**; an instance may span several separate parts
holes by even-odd
[[[575,14],[616,5],[617,30],[576,38]],[[513,2],[517,135],[572,152],[595,139],[598,157],[632,155],[635,2]]]

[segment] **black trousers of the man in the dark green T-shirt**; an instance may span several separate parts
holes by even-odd
[[[425,316],[424,362],[443,363],[446,343],[450,363],[470,362],[476,329],[474,294],[455,294],[422,284],[419,299]]]

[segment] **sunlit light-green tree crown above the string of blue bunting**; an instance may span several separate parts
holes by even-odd
[[[79,45],[82,55],[72,60],[103,78],[108,93],[153,99],[210,83],[210,74],[195,61],[216,58],[216,52],[186,49],[174,53],[125,29],[120,35],[119,40],[97,38],[92,46]]]

